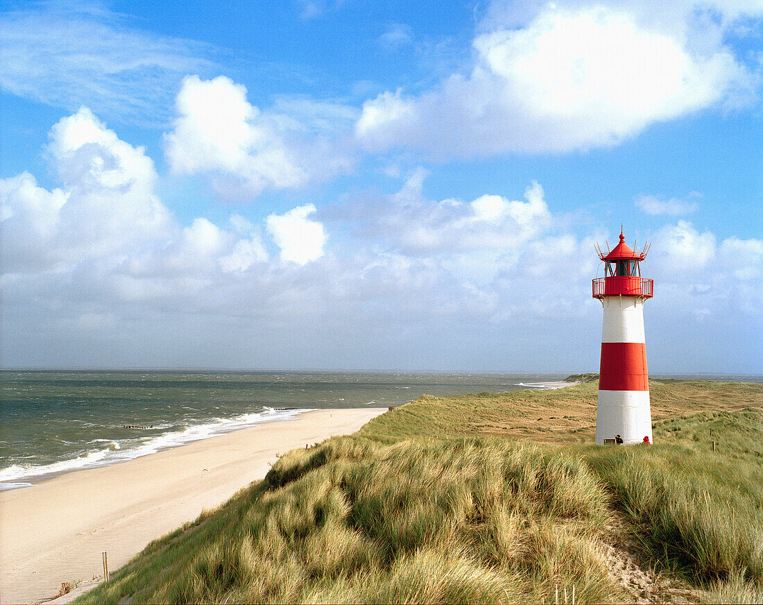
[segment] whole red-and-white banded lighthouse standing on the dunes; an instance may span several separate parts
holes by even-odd
[[[636,244],[634,244],[634,247]],[[604,307],[601,330],[599,398],[596,406],[596,442],[652,442],[649,376],[646,372],[644,301],[652,298],[652,280],[641,277],[639,262],[649,247],[636,252],[620,243],[604,254],[604,277],[594,279],[593,295]],[[612,441],[610,441],[612,439]]]

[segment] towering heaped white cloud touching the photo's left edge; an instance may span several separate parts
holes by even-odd
[[[169,211],[153,193],[153,162],[88,108],[53,127],[48,149],[63,189],[46,191],[27,172],[2,184],[6,269],[127,253],[172,237]]]

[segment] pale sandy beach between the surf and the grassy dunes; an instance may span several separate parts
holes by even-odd
[[[53,597],[261,479],[278,454],[353,433],[386,408],[316,410],[0,492],[0,603]]]

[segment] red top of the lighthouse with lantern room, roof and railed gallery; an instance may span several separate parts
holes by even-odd
[[[594,279],[594,298],[605,296],[638,296],[652,298],[652,280],[641,277],[639,262],[646,258],[649,248],[636,252],[625,243],[625,236],[620,230],[620,243],[610,253],[598,250],[599,258],[604,261],[604,277]]]

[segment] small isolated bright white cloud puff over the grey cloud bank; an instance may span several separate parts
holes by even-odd
[[[324,256],[328,239],[324,226],[307,218],[315,211],[314,204],[305,204],[285,214],[270,214],[267,217],[268,233],[281,249],[282,259],[306,265]]]

